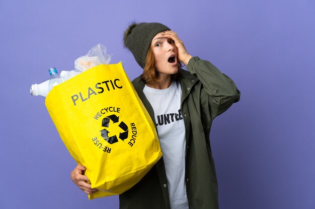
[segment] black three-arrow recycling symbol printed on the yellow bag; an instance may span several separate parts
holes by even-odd
[[[111,126],[113,125],[117,125],[117,123],[119,122],[119,116],[117,117],[115,114],[113,115],[109,115],[105,118],[103,118],[102,120],[102,126],[104,127],[103,130],[101,130],[101,136],[103,137],[103,139],[105,139],[108,143],[113,144],[118,142],[118,138],[117,135],[118,134],[114,134],[110,133],[107,129],[109,129],[109,124],[110,121],[112,121]],[[118,125],[118,127],[120,128],[121,131],[119,131],[119,138],[121,140],[125,140],[128,137],[128,126],[121,121]],[[106,129],[107,128],[107,129]],[[111,136],[110,136],[111,135]]]

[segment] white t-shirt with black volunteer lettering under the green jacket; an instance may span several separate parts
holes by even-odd
[[[185,125],[181,113],[182,89],[172,81],[167,89],[145,85],[144,95],[150,102],[165,163],[171,209],[188,209],[185,185]]]

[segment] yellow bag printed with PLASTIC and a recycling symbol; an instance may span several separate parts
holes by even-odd
[[[89,199],[128,190],[162,156],[155,126],[121,63],[53,87],[45,104],[71,156],[100,190]]]

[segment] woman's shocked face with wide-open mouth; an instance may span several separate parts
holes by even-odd
[[[156,34],[152,39],[151,48],[154,54],[155,67],[160,78],[178,72],[177,47],[172,39],[163,38],[162,32]]]

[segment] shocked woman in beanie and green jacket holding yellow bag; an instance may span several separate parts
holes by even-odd
[[[163,157],[119,196],[120,208],[218,208],[210,127],[239,101],[240,91],[210,62],[192,57],[177,34],[160,23],[131,24],[124,46],[143,68],[132,83],[155,121]],[[77,165],[71,178],[94,193],[84,170]]]

